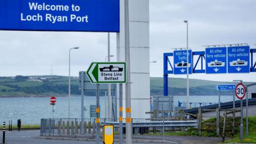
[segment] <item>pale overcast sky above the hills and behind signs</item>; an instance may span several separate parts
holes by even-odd
[[[189,21],[189,47],[193,51],[204,51],[202,45],[212,44],[248,43],[256,47],[255,0],[149,0],[149,4],[150,60],[157,61],[150,64],[152,77],[163,76],[164,52],[186,47],[185,19]],[[68,52],[74,46],[81,49],[71,51],[71,75],[78,76],[90,62],[105,61],[107,33],[0,31],[0,76],[50,75],[51,65],[54,75],[68,76]],[[111,54],[116,56],[115,33],[111,34]],[[190,77],[256,82],[256,73]]]

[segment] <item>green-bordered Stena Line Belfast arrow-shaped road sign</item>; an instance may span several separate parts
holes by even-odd
[[[91,83],[126,83],[125,62],[92,62],[86,74]]]

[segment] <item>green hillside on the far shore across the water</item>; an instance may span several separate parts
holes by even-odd
[[[169,95],[186,95],[185,78],[169,78]],[[231,82],[205,81],[189,79],[190,95],[217,95],[217,84],[232,84]],[[246,83],[248,84],[248,83]],[[0,77],[0,96],[25,96],[25,95],[67,95],[67,76],[15,76]],[[87,92],[94,95],[95,92]],[[78,77],[71,77],[71,94],[81,94],[79,91]],[[232,94],[230,91],[222,94]],[[150,78],[150,95],[163,95],[163,78]]]

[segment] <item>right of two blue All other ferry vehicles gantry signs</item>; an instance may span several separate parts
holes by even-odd
[[[228,73],[250,73],[250,46],[228,47]]]

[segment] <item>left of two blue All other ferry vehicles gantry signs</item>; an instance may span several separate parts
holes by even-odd
[[[227,73],[227,47],[205,49],[206,74]]]

